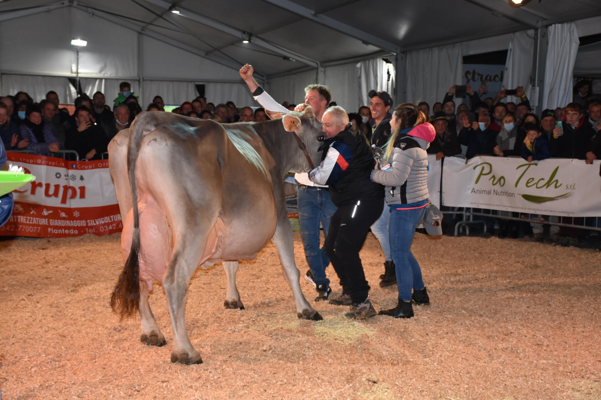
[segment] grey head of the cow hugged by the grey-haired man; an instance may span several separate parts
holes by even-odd
[[[321,142],[317,140],[322,135],[322,123],[317,121],[317,117],[311,106],[308,106],[302,113],[291,112],[282,117],[284,129],[288,132],[294,132],[309,152],[313,165],[317,166],[321,162],[321,154],[317,151]],[[311,170],[307,158],[294,140],[294,163],[291,172],[308,172]]]

